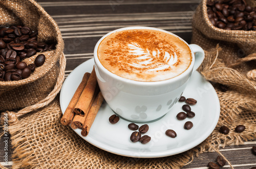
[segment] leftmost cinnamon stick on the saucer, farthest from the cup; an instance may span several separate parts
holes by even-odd
[[[67,107],[67,109],[65,110],[62,118],[60,119],[60,123],[63,125],[70,125],[70,123],[72,122],[72,119],[74,118],[75,114],[74,114],[74,107],[84,89],[84,87],[86,87],[86,84],[88,82],[88,79],[90,77],[91,73],[84,73],[83,77],[82,77],[82,81],[80,82],[78,88],[76,89],[75,94],[73,95],[71,101],[69,102],[69,105]]]

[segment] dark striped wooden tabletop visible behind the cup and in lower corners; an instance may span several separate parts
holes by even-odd
[[[106,33],[125,26],[152,26],[172,32],[190,43],[192,36],[191,18],[200,0],[106,0],[106,1],[37,1],[58,23],[65,41],[67,67],[65,76],[81,63],[93,58],[96,42]],[[0,132],[3,128],[0,129]],[[10,135],[0,139],[0,162],[8,153],[8,167],[11,168]],[[7,141],[6,141],[7,140]],[[7,145],[5,143],[8,143]],[[241,146],[227,146],[220,152],[236,169],[256,166],[256,156],[251,148],[256,142]],[[205,152],[183,168],[208,168],[215,162],[218,153]],[[231,168],[226,164],[223,168]]]

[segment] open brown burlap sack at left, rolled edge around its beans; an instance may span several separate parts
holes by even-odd
[[[23,24],[38,31],[39,42],[55,42],[56,49],[43,52],[45,64],[35,69],[30,77],[19,81],[0,81],[0,111],[17,110],[51,100],[60,90],[63,71],[66,66],[63,55],[63,40],[55,21],[33,0],[0,1],[0,25]],[[33,63],[33,57],[24,60]],[[58,64],[60,60],[60,64]],[[59,65],[60,69],[59,70]],[[61,78],[57,84],[57,78]],[[54,89],[54,87],[56,89]],[[52,91],[55,91],[51,93]],[[36,108],[36,107],[34,107]],[[31,109],[31,107],[30,107]],[[27,109],[29,110],[29,108]],[[25,114],[25,111],[22,113]],[[18,116],[21,114],[18,114]]]

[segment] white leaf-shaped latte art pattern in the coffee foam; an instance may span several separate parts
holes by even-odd
[[[135,55],[132,62],[129,63],[130,66],[136,68],[143,68],[146,71],[158,71],[169,69],[170,65],[174,65],[178,61],[176,52],[170,54],[167,51],[164,51],[164,57],[160,57],[162,54],[159,49],[150,51],[148,49],[142,48],[137,43],[128,44],[130,48],[130,53]]]

